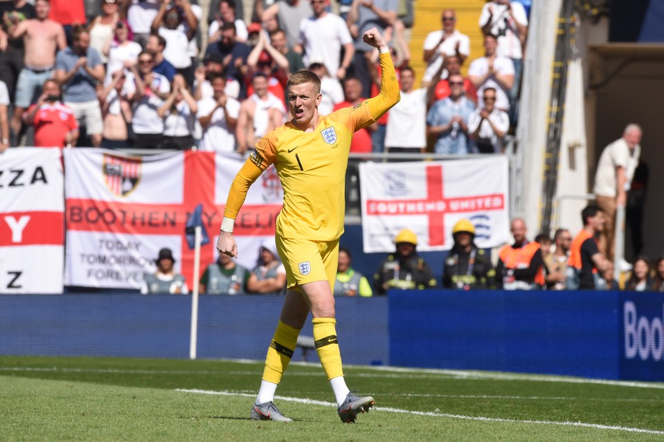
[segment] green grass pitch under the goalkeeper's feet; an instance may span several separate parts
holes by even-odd
[[[376,409],[343,424],[323,370],[291,364],[249,420],[262,362],[0,357],[0,441],[664,441],[664,384],[345,367]]]

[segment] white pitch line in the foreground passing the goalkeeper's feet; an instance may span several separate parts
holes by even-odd
[[[246,394],[246,393],[233,393],[233,392],[215,392],[213,390],[200,390],[200,389],[176,389],[176,392],[182,393],[196,393],[196,394],[214,394],[219,396],[242,396],[242,397],[255,397],[255,394]],[[325,402],[323,400],[312,400],[305,398],[291,398],[288,396],[275,396],[276,399],[285,400],[288,402],[303,403],[309,405],[321,405],[324,407],[337,407],[336,403]],[[537,425],[563,425],[563,426],[573,426],[573,427],[586,427],[586,428],[595,428],[598,430],[618,430],[632,433],[646,433],[646,434],[664,434],[664,431],[659,430],[647,430],[645,428],[635,428],[635,427],[620,427],[617,425],[600,425],[597,423],[584,423],[584,422],[557,422],[557,421],[530,421],[530,420],[520,420],[520,419],[505,419],[505,418],[492,418],[485,416],[464,416],[463,414],[449,414],[449,413],[436,413],[436,412],[414,412],[408,409],[400,408],[391,408],[391,407],[375,407],[376,411],[379,412],[388,412],[388,413],[400,413],[400,414],[416,414],[418,416],[434,416],[434,417],[446,417],[452,419],[463,419],[466,421],[482,421],[482,422],[508,422],[508,423],[532,423]]]

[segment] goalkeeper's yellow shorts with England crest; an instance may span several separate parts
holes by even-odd
[[[327,281],[334,291],[339,266],[339,239],[314,241],[276,235],[277,250],[286,268],[286,286],[300,291],[307,282]]]

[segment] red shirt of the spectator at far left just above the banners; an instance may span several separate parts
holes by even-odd
[[[28,108],[29,113],[37,104]],[[35,114],[35,147],[64,147],[65,136],[69,132],[78,131],[78,122],[69,107],[61,102],[45,103]]]

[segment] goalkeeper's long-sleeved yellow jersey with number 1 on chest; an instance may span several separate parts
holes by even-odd
[[[224,217],[237,217],[249,185],[274,164],[284,188],[277,234],[317,241],[341,237],[352,134],[373,124],[400,98],[390,55],[382,54],[380,61],[381,92],[376,97],[321,117],[312,132],[287,122],[261,138],[233,180]]]

